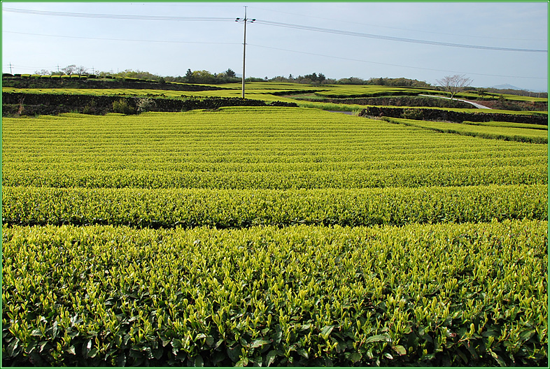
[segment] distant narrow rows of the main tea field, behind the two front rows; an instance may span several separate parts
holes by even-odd
[[[83,116],[71,118],[70,125],[67,119],[2,121],[4,186],[360,189],[547,184],[544,145],[441,135],[320,110],[222,108],[123,120]]]

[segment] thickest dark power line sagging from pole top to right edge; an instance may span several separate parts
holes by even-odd
[[[344,35],[344,36],[377,38],[379,40],[387,40],[387,41],[400,41],[400,42],[406,42],[406,43],[422,43],[424,45],[450,46],[450,47],[453,47],[453,48],[499,50],[499,51],[519,51],[519,52],[548,52],[548,50],[500,48],[500,47],[496,47],[496,46],[482,46],[482,45],[465,45],[465,44],[462,44],[462,43],[444,43],[444,42],[439,42],[439,41],[416,40],[414,38],[402,38],[402,37],[383,36],[383,35],[376,35],[376,34],[362,34],[360,32],[341,31],[339,29],[327,29],[327,28],[320,28],[320,27],[302,26],[300,24],[271,22],[269,20],[256,20],[256,22],[259,23],[259,24],[265,24],[265,25],[274,26],[274,27],[304,29],[306,31],[325,32],[325,33],[328,33],[328,34],[341,34],[341,35]]]

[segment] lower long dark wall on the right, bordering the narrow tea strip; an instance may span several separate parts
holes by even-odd
[[[514,122],[528,124],[548,125],[548,116],[539,115],[519,115],[519,114],[501,114],[501,113],[464,113],[450,110],[423,109],[423,108],[386,108],[379,106],[369,106],[360,111],[360,117],[392,117],[409,118],[414,113],[416,120],[446,120],[450,122]]]

